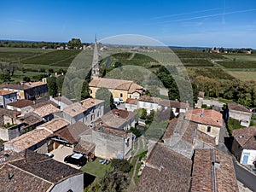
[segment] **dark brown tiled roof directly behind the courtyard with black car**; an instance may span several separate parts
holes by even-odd
[[[74,144],[79,142],[80,134],[89,129],[90,128],[87,125],[84,125],[82,122],[79,121],[73,125],[68,125],[63,129],[56,131],[50,137],[60,137],[68,143]]]

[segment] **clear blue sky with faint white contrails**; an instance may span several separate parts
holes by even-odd
[[[256,48],[255,0],[1,0],[0,8],[0,39],[137,34],[170,46]]]

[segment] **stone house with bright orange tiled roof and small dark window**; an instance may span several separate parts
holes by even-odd
[[[224,128],[222,113],[212,109],[195,108],[184,113],[184,119],[197,123],[197,130],[215,137],[215,143],[218,145],[220,129]]]

